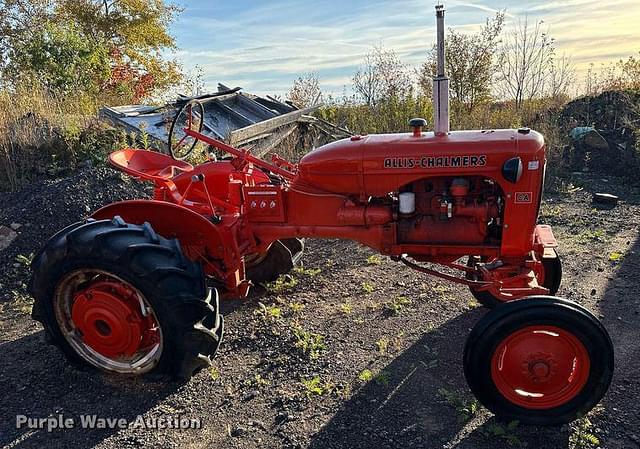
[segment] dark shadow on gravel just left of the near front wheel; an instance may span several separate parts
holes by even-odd
[[[486,411],[469,419],[474,402],[462,369],[470,329],[486,313],[477,308],[459,315],[420,340],[383,368],[313,436],[311,449],[331,448],[566,448],[558,427],[519,426],[495,437],[507,425]]]

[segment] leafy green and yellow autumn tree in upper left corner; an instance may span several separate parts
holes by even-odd
[[[168,27],[179,9],[163,0],[5,0],[0,6],[5,85],[30,78],[56,93],[84,89],[129,102],[180,80],[178,64],[163,56],[175,48]],[[74,74],[80,80],[70,83]]]

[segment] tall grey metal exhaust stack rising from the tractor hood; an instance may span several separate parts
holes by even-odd
[[[444,11],[444,5],[436,6],[438,71],[433,78],[433,129],[436,136],[449,134],[449,78],[445,67]]]

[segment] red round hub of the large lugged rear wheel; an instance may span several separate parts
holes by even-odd
[[[101,281],[75,295],[71,318],[87,346],[99,354],[130,357],[158,339],[157,324],[143,316],[136,292]]]

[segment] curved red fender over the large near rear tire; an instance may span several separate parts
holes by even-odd
[[[245,296],[244,263],[232,229],[234,222],[211,223],[186,207],[165,201],[133,200],[113,203],[96,211],[91,218],[110,220],[116,215],[131,224],[149,223],[165,238],[176,238],[191,260],[202,262],[207,274],[225,281],[236,297]]]

